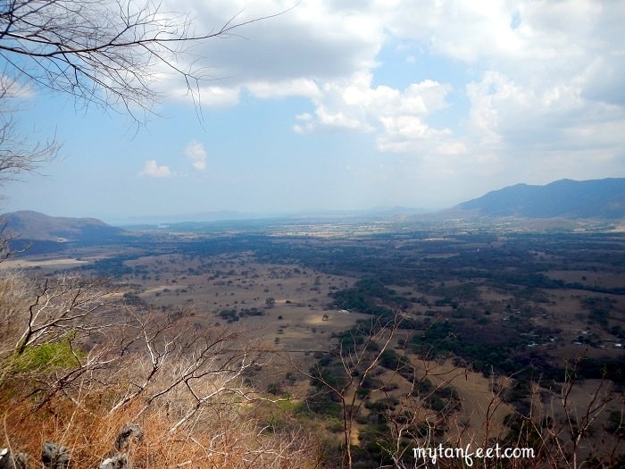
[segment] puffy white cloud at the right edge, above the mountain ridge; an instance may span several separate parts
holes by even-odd
[[[625,116],[615,106],[584,99],[575,83],[531,88],[498,72],[467,86],[470,135],[504,153],[547,155],[562,150],[621,147]]]

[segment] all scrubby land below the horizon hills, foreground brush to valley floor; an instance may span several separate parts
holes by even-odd
[[[97,467],[136,423],[133,467],[622,464],[619,235],[300,231],[3,263],[5,446]]]

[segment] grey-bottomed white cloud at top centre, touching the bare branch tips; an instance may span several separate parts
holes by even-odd
[[[233,29],[230,35],[195,43],[179,68],[196,70],[202,105],[236,105],[241,88],[264,98],[316,96],[318,83],[368,70],[384,41],[383,25],[365,4],[296,0],[167,0],[164,9],[186,11],[197,31],[229,23],[273,18]],[[295,6],[295,7],[294,7]],[[292,8],[294,7],[294,8]],[[187,85],[172,86],[163,71],[162,89],[187,96]],[[213,83],[218,83],[213,85]],[[217,92],[217,93],[216,93]]]

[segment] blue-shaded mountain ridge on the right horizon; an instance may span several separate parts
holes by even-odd
[[[625,178],[517,184],[463,202],[455,210],[527,218],[625,218]]]

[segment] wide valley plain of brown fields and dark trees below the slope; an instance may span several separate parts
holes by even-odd
[[[172,228],[144,232],[128,248],[72,247],[10,262],[4,267],[111,277],[129,305],[162,317],[183,311],[196,334],[236,331],[232,348],[252,346],[267,357],[249,382],[319,415],[335,412],[338,396],[323,398],[297,369],[359,376],[361,368],[346,366],[346,350],[371,360],[366,331],[396,314],[401,325],[388,353],[404,356],[409,373],[393,368],[401,360],[378,357],[371,380],[358,385],[371,389],[354,384],[343,396],[359,406],[350,439],[363,448],[379,419],[396,418],[409,395],[409,413],[439,422],[446,440],[462,442],[504,439],[512,431],[506,419],[531,408],[531,389],[552,406],[572,369],[581,377],[573,408],[587,406],[584,380],[612,383],[594,428],[608,426],[622,400],[620,233],[362,222]],[[379,382],[385,387],[376,388]],[[566,415],[552,412],[563,424]],[[321,421],[338,439],[337,416],[328,415]]]

